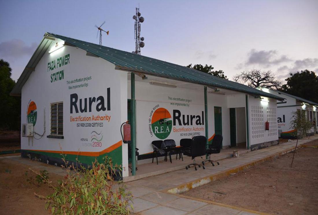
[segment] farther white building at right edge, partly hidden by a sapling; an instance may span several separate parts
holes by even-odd
[[[307,119],[313,123],[313,127],[308,133],[308,135],[313,135],[314,133],[317,133],[317,103],[277,90],[262,87],[260,87],[259,89],[264,92],[268,92],[273,95],[285,98],[284,102],[277,103],[277,125],[279,137],[287,139],[296,138],[295,130],[292,128],[290,122],[293,120],[293,112],[301,109],[306,110]]]

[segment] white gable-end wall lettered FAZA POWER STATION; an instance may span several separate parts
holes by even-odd
[[[54,46],[53,43],[52,46]],[[50,48],[49,48],[50,50]],[[57,61],[59,57],[70,54],[70,60],[67,65],[48,70],[48,63]],[[51,82],[51,75],[64,70],[64,79]],[[69,83],[75,79],[91,77],[90,80]],[[73,89],[72,86],[84,84],[83,87]],[[69,89],[71,87],[71,89]],[[103,96],[107,105],[107,88],[110,88],[110,110],[97,111],[96,102],[92,105],[92,111],[73,113],[70,111],[70,95],[76,93],[78,100],[84,98]],[[123,90],[121,92],[121,89]],[[37,133],[44,133],[44,109],[45,109],[45,127],[46,131],[40,140],[33,139],[33,146],[28,143],[27,137],[21,138],[21,149],[24,150],[42,150],[59,152],[60,147],[66,152],[87,152],[99,153],[104,149],[121,141],[120,123],[127,120],[127,72],[114,70],[114,65],[107,61],[86,56],[86,51],[75,47],[65,46],[49,54],[45,53],[31,73],[29,79],[22,88],[21,98],[21,123],[27,123],[28,104],[34,101],[37,105],[37,121],[34,130]],[[64,139],[52,139],[46,136],[50,134],[50,105],[51,103],[63,102],[64,114]],[[125,105],[121,105],[124,103]],[[79,108],[79,101],[77,102]],[[88,104],[87,104],[88,105]],[[111,116],[110,121],[84,121],[73,122],[71,117],[91,117],[92,116]],[[78,124],[79,123],[79,124]],[[93,123],[102,123],[101,127],[93,127]],[[83,125],[83,126],[82,126]],[[98,139],[102,137],[101,144],[93,146],[92,132],[96,131]],[[35,137],[38,138],[36,135]],[[95,140],[94,140],[95,141]],[[127,151],[126,147],[124,150]],[[95,153],[95,154],[96,154]],[[127,161],[125,161],[127,164]],[[126,165],[125,164],[125,165]]]

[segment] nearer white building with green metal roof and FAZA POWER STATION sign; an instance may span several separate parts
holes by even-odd
[[[219,133],[223,147],[257,149],[278,143],[276,103],[283,100],[194,69],[53,33],[45,33],[11,94],[21,96],[21,123],[34,125],[34,132],[21,138],[23,157],[60,165],[61,149],[67,160],[84,164],[109,155],[124,167],[124,177],[128,144],[122,143],[120,127],[127,119],[135,117],[131,153],[139,148],[138,162],[152,157],[153,140],[174,139],[178,145],[196,135],[211,142]]]

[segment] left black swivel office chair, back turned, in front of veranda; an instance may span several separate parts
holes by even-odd
[[[192,157],[193,163],[187,165],[185,168],[188,169],[192,165],[194,169],[197,170],[197,166],[200,168],[200,164],[196,163],[196,157],[205,155],[205,145],[206,145],[206,137],[205,136],[195,136],[192,138],[192,142],[190,148],[186,148],[183,150],[183,154]],[[204,166],[202,166],[205,169]]]

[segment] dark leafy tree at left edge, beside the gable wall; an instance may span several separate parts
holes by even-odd
[[[21,98],[10,96],[16,82],[12,80],[10,64],[0,60],[0,129],[19,130]]]

